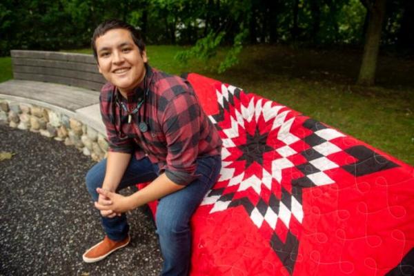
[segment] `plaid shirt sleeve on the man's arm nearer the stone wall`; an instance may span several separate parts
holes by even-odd
[[[113,110],[115,113],[112,113],[112,104],[113,102],[110,100],[110,96],[101,93],[99,96],[99,108],[101,110],[102,121],[105,125],[106,135],[108,137],[108,150],[110,152],[132,153],[134,152],[132,139],[128,138],[126,135],[125,137],[121,137],[119,131],[117,131],[115,126],[117,110],[114,108]]]

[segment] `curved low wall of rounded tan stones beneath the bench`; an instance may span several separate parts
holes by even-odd
[[[108,141],[97,130],[41,106],[0,99],[0,124],[63,141],[66,146],[75,146],[95,161],[101,161],[108,152]]]

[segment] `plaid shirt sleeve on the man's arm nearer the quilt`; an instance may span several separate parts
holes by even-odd
[[[177,95],[166,107],[163,131],[166,135],[166,176],[175,184],[187,185],[195,175],[199,145],[200,106],[194,95]]]

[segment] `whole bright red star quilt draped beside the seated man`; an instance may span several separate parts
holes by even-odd
[[[224,142],[192,219],[190,275],[414,273],[412,166],[274,101],[187,78]]]

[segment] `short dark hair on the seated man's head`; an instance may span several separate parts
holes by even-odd
[[[98,37],[103,36],[103,34],[106,34],[108,30],[114,30],[114,29],[125,29],[128,30],[131,34],[132,40],[134,41],[135,45],[138,46],[139,52],[142,53],[142,51],[145,50],[145,43],[144,40],[141,37],[141,33],[139,30],[137,30],[134,26],[121,21],[119,19],[109,19],[106,21],[103,21],[102,23],[97,26],[95,31],[93,32],[92,39],[90,41],[90,46],[93,50],[93,56],[96,60],[98,60],[98,54],[97,54],[97,46],[95,44],[95,41],[97,41]]]

